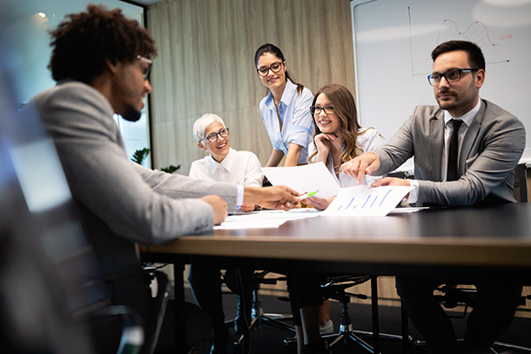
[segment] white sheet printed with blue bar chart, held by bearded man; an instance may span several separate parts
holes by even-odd
[[[408,186],[355,186],[341,189],[323,216],[385,216],[413,188]]]

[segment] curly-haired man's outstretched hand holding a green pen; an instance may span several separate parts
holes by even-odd
[[[300,196],[296,190],[286,186],[273,187],[245,187],[243,193],[243,203],[258,204],[268,209],[281,209],[288,211],[293,208],[300,208]]]

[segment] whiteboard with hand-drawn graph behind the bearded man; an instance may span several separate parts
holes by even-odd
[[[362,127],[389,139],[415,105],[437,104],[427,82],[432,50],[471,41],[486,61],[480,96],[524,122],[521,161],[531,163],[531,0],[355,0],[350,12]]]

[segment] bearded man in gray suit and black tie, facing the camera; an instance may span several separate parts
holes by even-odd
[[[515,202],[514,168],[526,145],[525,129],[511,113],[480,98],[485,81],[481,49],[472,42],[444,42],[433,50],[432,58],[428,81],[439,105],[416,107],[387,144],[343,164],[343,172],[363,181],[366,173],[389,173],[414,157],[414,181],[388,177],[373,187],[412,185],[408,202],[417,205]],[[434,352],[488,353],[511,324],[519,304],[521,284],[509,275],[496,281],[397,277],[396,289],[413,325]],[[433,291],[442,283],[462,281],[476,286],[478,304],[459,347]]]

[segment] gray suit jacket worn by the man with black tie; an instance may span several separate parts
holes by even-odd
[[[471,205],[486,198],[515,202],[514,167],[526,147],[526,132],[519,119],[496,104],[481,101],[459,153],[458,181],[441,181],[443,139],[444,112],[438,106],[417,106],[396,135],[374,150],[381,165],[373,174],[389,173],[414,156],[417,205]]]

